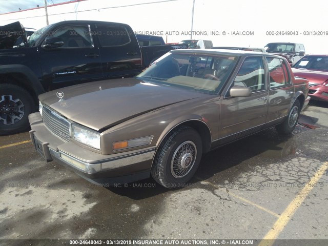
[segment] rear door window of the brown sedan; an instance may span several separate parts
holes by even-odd
[[[270,89],[290,84],[288,68],[286,67],[284,61],[279,58],[266,58],[270,74]]]

